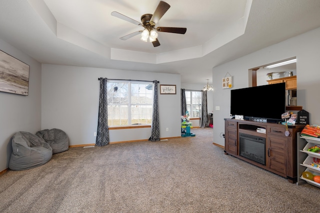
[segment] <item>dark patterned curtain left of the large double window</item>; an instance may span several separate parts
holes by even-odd
[[[96,146],[105,146],[109,144],[109,128],[108,128],[108,105],[107,105],[107,78],[99,78],[100,95],[99,95],[99,114],[98,128],[96,131]]]

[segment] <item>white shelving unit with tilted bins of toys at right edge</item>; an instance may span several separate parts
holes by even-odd
[[[308,148],[315,145],[320,145],[320,138],[304,137],[301,136],[300,133],[297,133],[297,185],[308,183],[320,188],[320,184],[302,177],[302,172],[304,171],[308,171],[313,175],[320,175],[320,168],[310,165],[310,163],[313,162],[313,158],[320,159],[320,154],[307,151]]]

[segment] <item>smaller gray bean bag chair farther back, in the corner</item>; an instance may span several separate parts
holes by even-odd
[[[45,129],[35,133],[40,138],[43,138],[46,143],[52,148],[52,154],[64,152],[69,149],[68,136],[60,129]]]

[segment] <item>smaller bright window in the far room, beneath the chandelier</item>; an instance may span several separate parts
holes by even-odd
[[[186,109],[190,113],[191,118],[199,118],[201,116],[201,91],[185,90]]]

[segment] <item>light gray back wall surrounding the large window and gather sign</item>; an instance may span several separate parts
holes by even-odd
[[[176,85],[175,95],[158,96],[160,138],[180,136],[180,75],[42,64],[41,128],[62,129],[70,145],[94,144],[99,77],[158,80]],[[169,131],[166,131],[166,128]],[[150,128],[110,130],[110,142],[145,140]]]

